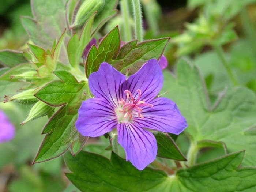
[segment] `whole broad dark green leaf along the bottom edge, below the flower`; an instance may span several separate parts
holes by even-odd
[[[150,168],[139,171],[114,153],[110,161],[85,151],[75,157],[67,153],[65,162],[71,171],[66,176],[82,192],[254,191],[256,169],[238,168],[243,157],[244,151],[232,153],[170,176]]]

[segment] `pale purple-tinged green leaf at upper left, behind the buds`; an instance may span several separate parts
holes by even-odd
[[[68,0],[41,1],[32,0],[31,8],[34,18],[23,16],[22,25],[31,41],[45,50],[51,48],[54,40],[59,38],[67,28],[65,6]],[[61,61],[68,63],[67,52],[61,49]]]

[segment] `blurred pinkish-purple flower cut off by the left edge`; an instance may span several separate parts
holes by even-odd
[[[10,141],[14,138],[15,128],[8,117],[0,110],[0,143]]]

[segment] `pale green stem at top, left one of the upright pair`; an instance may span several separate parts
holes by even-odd
[[[130,26],[130,14],[129,14],[129,5],[128,5],[128,0],[122,0],[120,2],[121,6],[121,11],[122,11],[122,16],[124,19],[124,30],[125,30],[125,36],[124,36],[124,41],[131,41],[132,40],[132,31],[131,31],[131,26]]]

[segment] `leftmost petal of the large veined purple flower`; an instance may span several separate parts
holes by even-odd
[[[78,110],[76,129],[83,136],[98,137],[117,127],[112,105],[104,99],[94,98],[82,102]]]

